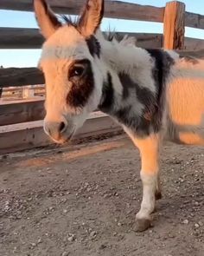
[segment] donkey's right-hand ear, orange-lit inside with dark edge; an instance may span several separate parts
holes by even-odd
[[[91,36],[99,28],[104,16],[104,0],[87,0],[80,16],[79,29],[83,36]]]

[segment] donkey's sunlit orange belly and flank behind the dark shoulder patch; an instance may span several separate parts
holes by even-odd
[[[179,77],[167,95],[170,141],[204,145],[204,76]]]

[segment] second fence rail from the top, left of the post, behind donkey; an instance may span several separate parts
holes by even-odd
[[[135,36],[138,47],[162,47],[161,34],[123,32],[118,32],[117,34],[119,36],[126,34]],[[41,48],[41,44],[43,43],[43,38],[37,29],[0,28],[0,35],[0,49],[38,49]]]

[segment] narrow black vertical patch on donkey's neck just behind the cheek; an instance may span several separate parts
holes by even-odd
[[[112,86],[112,75],[107,73],[107,80],[103,84],[102,97],[99,109],[105,113],[111,113],[114,104],[114,90]]]

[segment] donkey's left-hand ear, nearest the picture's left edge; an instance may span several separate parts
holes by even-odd
[[[53,35],[61,27],[61,23],[45,0],[34,0],[34,10],[41,34],[48,39],[49,36]]]

